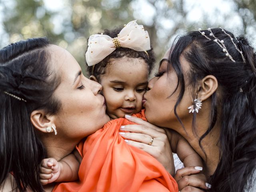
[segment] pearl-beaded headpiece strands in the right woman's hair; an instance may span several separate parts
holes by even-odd
[[[220,27],[220,29],[222,30],[222,32],[224,32],[224,33],[230,38],[230,40],[231,40],[232,43],[234,44],[236,50],[238,50],[238,52],[241,54],[242,59],[243,59],[243,61],[244,61],[244,63],[245,63],[246,61],[245,61],[245,58],[244,58],[244,55],[243,55],[242,50],[239,50],[239,49],[238,49],[238,47],[237,47],[236,44],[234,43],[233,38],[230,36],[230,34],[227,34],[226,31],[225,31],[224,29],[222,29],[221,27]],[[201,32],[201,30],[202,30],[201,28],[198,29],[198,31],[202,34],[202,36],[204,36],[205,38],[207,38],[207,39],[210,40],[210,41],[213,40],[213,39],[209,38],[208,36],[206,36],[206,35],[205,35],[205,32]],[[230,60],[232,60],[232,62],[236,62],[236,61],[232,58],[232,56],[228,53],[228,50],[227,50],[227,48],[226,48],[226,46],[225,46],[225,44],[224,44],[224,40],[220,40],[220,39],[218,39],[216,36],[214,36],[214,34],[213,34],[211,28],[208,28],[207,30],[210,32],[209,36],[211,36],[211,37],[214,38],[213,41],[216,42],[216,43],[220,46],[220,48],[222,48],[222,51],[223,51],[223,52],[226,52],[226,56],[229,57]],[[237,40],[237,39],[236,39],[236,40]]]

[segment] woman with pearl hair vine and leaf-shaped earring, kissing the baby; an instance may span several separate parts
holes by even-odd
[[[144,95],[147,120],[176,130],[188,140],[204,161],[209,191],[252,191],[256,175],[253,48],[244,37],[208,28],[181,36],[170,50]],[[134,146],[148,143],[153,131],[134,125],[124,130],[137,132],[126,134],[128,139],[144,138],[142,143],[128,142]],[[205,187],[205,181],[193,173],[194,168],[176,172],[181,192]]]

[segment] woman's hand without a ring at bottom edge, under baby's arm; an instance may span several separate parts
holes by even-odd
[[[206,183],[206,176],[200,173],[196,167],[185,167],[177,170],[174,179],[178,183],[180,192],[203,192],[211,188],[211,185]]]

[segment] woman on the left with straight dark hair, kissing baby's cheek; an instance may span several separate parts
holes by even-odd
[[[42,188],[39,164],[67,156],[110,120],[101,88],[83,76],[69,52],[46,38],[0,50],[1,191],[53,188]]]

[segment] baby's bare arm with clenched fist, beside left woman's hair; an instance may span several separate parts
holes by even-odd
[[[54,158],[43,159],[39,166],[39,177],[42,185],[77,180],[80,166],[79,156],[78,152],[74,150],[72,154],[62,158],[60,161]]]

